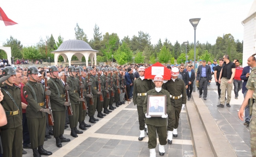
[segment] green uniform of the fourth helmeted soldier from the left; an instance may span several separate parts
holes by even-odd
[[[69,115],[69,123],[70,123],[70,128],[75,128],[78,123],[78,117],[79,117],[79,81],[72,77],[69,76],[67,78],[67,83],[70,89],[68,90],[69,93],[69,98],[70,98],[70,104],[73,110],[73,115]]]

